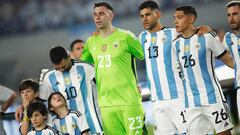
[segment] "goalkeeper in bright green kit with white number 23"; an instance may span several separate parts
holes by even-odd
[[[144,112],[134,70],[134,57],[144,57],[141,45],[131,32],[113,27],[111,5],[95,3],[93,9],[98,33],[86,41],[81,60],[95,67],[104,133],[142,134]]]

